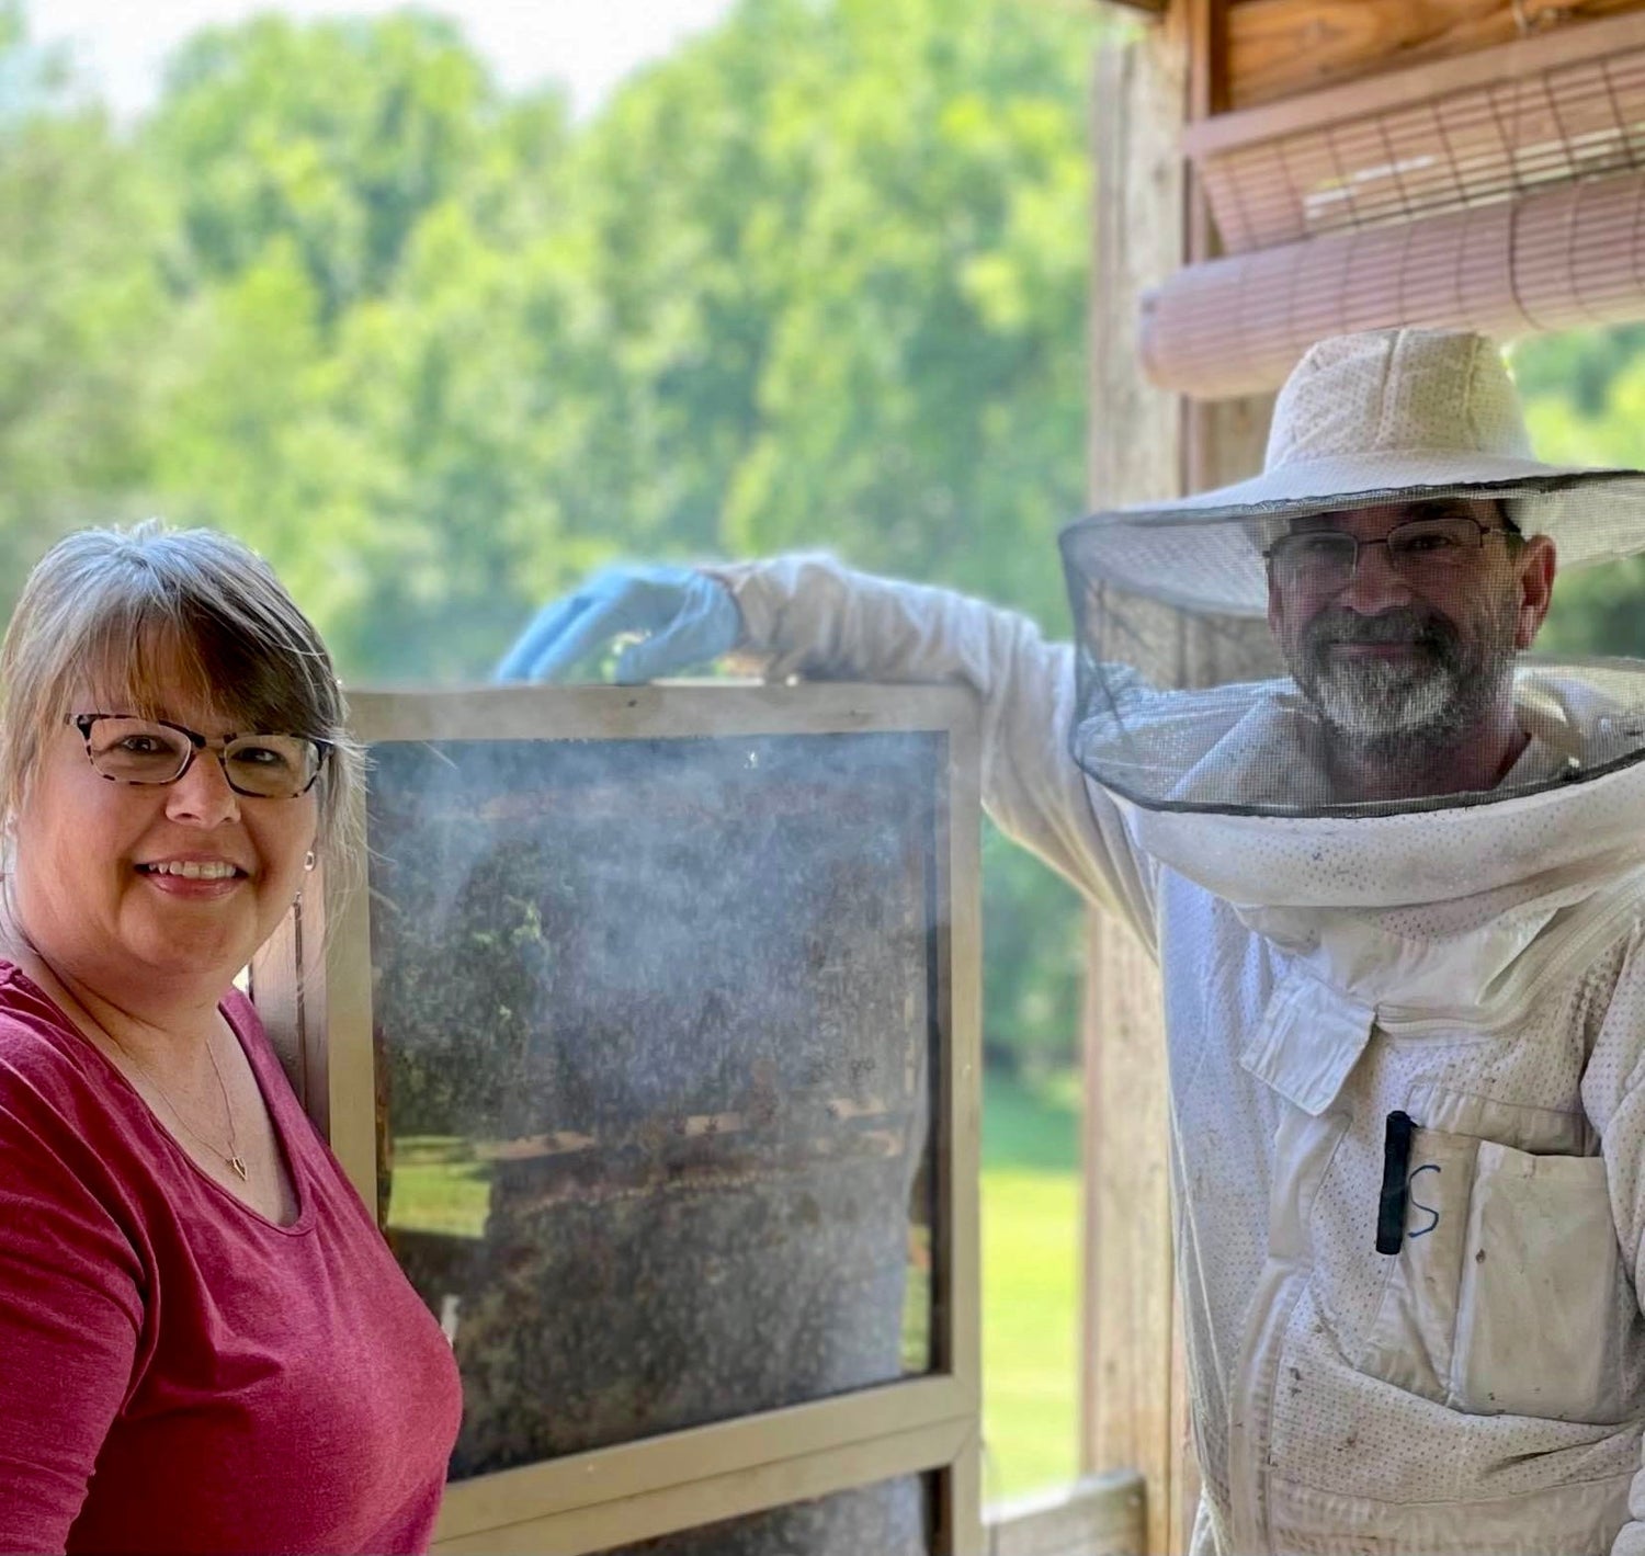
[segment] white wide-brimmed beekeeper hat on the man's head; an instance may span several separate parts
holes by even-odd
[[[1645,549],[1645,472],[1531,456],[1499,349],[1461,331],[1379,329],[1314,345],[1273,410],[1260,475],[1063,531],[1069,576],[1184,610],[1262,615],[1283,521],[1433,497],[1505,498],[1559,567]]]

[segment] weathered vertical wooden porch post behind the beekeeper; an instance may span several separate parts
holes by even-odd
[[[1168,497],[1252,474],[1270,401],[1188,405],[1142,378],[1142,293],[1214,243],[1179,137],[1221,105],[1224,0],[1173,0],[1097,59],[1096,255],[1091,306],[1091,500]],[[1163,607],[1156,684],[1207,684],[1268,651],[1260,623],[1230,633]],[[1160,979],[1128,931],[1092,916],[1086,992],[1086,1257],[1081,1464],[1147,1485],[1147,1551],[1188,1549],[1198,1477],[1171,1268],[1170,1150]]]

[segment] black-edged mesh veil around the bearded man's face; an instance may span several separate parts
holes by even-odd
[[[1527,531],[1581,528],[1606,549],[1592,540],[1602,493],[1505,487],[1495,512]],[[1402,516],[1464,512],[1453,498],[1480,492],[1425,497]],[[1525,540],[1487,535],[1469,556],[1411,549],[1395,561],[1372,538],[1352,582],[1321,579],[1314,559],[1281,574],[1265,561],[1275,543],[1344,533],[1342,520],[1300,507],[1171,525],[1104,515],[1064,533],[1079,645],[1073,750],[1107,790],[1173,811],[1383,813],[1508,798],[1638,758],[1637,666],[1543,663],[1518,650],[1513,558]],[[1359,528],[1362,540],[1375,533]],[[1504,722],[1517,734],[1502,770],[1487,771],[1484,747]],[[1355,778],[1367,768],[1390,781],[1367,786]]]

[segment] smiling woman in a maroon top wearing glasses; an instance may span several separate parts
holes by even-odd
[[[421,1551],[451,1350],[234,977],[360,757],[209,531],[97,530],[0,648],[0,1549]]]

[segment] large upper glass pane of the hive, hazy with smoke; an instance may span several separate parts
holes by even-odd
[[[941,1367],[943,737],[372,755],[378,1214],[452,1477]]]

